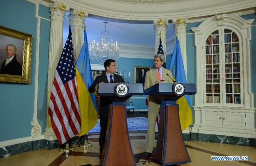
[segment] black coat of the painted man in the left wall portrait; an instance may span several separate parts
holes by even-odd
[[[1,66],[1,74],[22,75],[22,66],[17,61],[16,54],[14,55],[13,60],[11,60],[6,66],[5,61]]]

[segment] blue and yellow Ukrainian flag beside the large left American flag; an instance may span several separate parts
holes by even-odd
[[[78,102],[81,111],[81,133],[88,133],[96,124],[98,115],[96,111],[95,96],[88,89],[93,84],[93,76],[88,52],[87,33],[84,31],[84,44],[75,65],[77,80]]]

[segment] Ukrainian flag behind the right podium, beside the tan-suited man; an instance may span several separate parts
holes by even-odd
[[[182,60],[182,52],[178,38],[176,38],[176,45],[173,50],[173,55],[170,61],[169,70],[172,72],[177,82],[187,83],[183,60]],[[179,100],[177,100],[177,104],[179,105],[179,113],[180,113],[180,122],[182,131],[184,131],[187,127],[193,124],[192,119],[192,110],[189,101],[189,96],[184,95]]]

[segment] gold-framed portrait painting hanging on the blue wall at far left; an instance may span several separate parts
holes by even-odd
[[[32,40],[32,34],[0,26],[0,82],[30,83]],[[15,56],[12,56],[9,66],[6,64],[7,47],[16,48]],[[17,63],[22,68],[19,64],[17,67]]]

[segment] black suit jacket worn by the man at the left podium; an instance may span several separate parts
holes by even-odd
[[[94,92],[94,87],[101,83],[108,83],[107,75],[102,74],[100,76],[97,76],[95,78],[94,83],[89,87],[89,93]],[[121,75],[114,74],[114,83],[124,82]],[[111,101],[108,99],[108,97],[101,96],[101,104],[100,104],[100,116],[101,117],[108,117],[108,105],[111,104]]]

